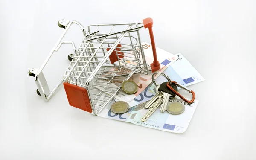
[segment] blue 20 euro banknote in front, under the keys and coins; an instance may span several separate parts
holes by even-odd
[[[128,112],[124,114],[113,113],[110,109],[112,103],[109,103],[108,106],[98,116],[123,122],[130,122],[135,125],[161,131],[183,133],[189,126],[189,123],[198,105],[198,100],[195,100],[192,104],[187,104],[182,99],[179,99],[179,97],[170,99],[169,101],[183,103],[185,105],[185,111],[180,115],[172,115],[167,111],[162,113],[159,107],[156,111],[154,111],[154,113],[148,118],[147,121],[142,122],[141,118],[148,111],[148,109],[144,109],[147,101],[129,108]]]

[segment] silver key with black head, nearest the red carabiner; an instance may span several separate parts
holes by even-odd
[[[178,88],[175,84],[172,84],[171,86],[178,91]],[[167,87],[167,82],[162,83],[158,91],[161,91],[163,93],[163,104],[161,107],[161,112],[164,112],[166,111],[166,106],[169,102],[169,98],[175,98],[176,94]]]

